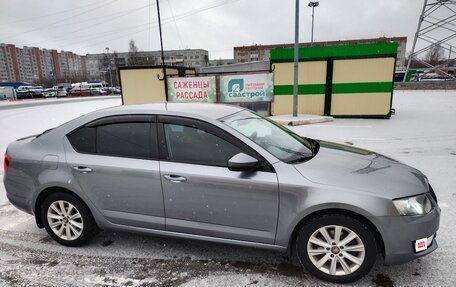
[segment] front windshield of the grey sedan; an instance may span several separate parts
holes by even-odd
[[[302,162],[314,155],[308,140],[253,112],[244,110],[220,121],[286,163]]]

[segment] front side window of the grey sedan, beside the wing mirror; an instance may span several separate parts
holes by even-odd
[[[228,160],[242,152],[228,141],[202,129],[165,123],[168,160],[226,167]]]

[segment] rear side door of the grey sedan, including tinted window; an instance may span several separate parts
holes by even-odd
[[[155,116],[114,116],[67,136],[68,168],[116,224],[164,229]]]

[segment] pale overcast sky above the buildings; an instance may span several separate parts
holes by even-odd
[[[300,41],[310,41],[311,8],[301,1]],[[422,0],[320,0],[315,41],[407,36]],[[295,0],[161,0],[165,49],[205,49],[232,58],[233,47],[294,41]],[[0,43],[77,54],[159,50],[155,0],[0,0]],[[456,43],[455,43],[456,44]]]

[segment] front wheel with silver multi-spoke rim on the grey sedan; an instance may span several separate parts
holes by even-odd
[[[304,268],[317,278],[349,283],[364,277],[375,263],[377,244],[369,226],[346,214],[311,218],[296,238]]]

